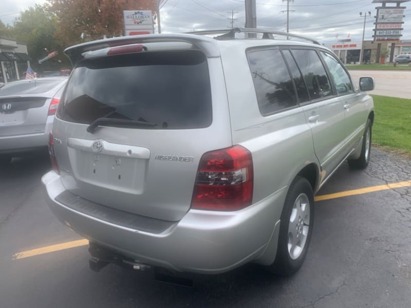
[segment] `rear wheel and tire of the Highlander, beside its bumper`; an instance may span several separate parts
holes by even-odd
[[[277,254],[270,271],[290,276],[300,269],[307,255],[314,222],[314,194],[310,182],[296,177],[284,202]]]

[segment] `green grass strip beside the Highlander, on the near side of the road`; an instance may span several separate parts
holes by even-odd
[[[411,100],[372,95],[375,120],[372,142],[411,155]]]

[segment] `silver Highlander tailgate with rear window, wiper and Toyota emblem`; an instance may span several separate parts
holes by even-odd
[[[203,153],[232,145],[227,105],[221,61],[200,51],[83,60],[53,126],[63,184],[108,207],[179,220]]]

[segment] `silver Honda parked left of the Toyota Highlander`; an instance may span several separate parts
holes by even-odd
[[[67,77],[36,78],[0,88],[0,162],[46,149]]]

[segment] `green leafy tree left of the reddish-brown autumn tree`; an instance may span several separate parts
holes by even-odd
[[[59,59],[64,62],[66,57],[62,55],[63,48],[54,37],[56,29],[57,17],[48,11],[48,6],[34,5],[21,12],[14,20],[11,35],[18,42],[27,44],[28,53],[33,59],[32,64],[36,67],[37,61],[48,51],[57,50]],[[53,62],[49,62],[45,66],[50,67],[52,64]]]

